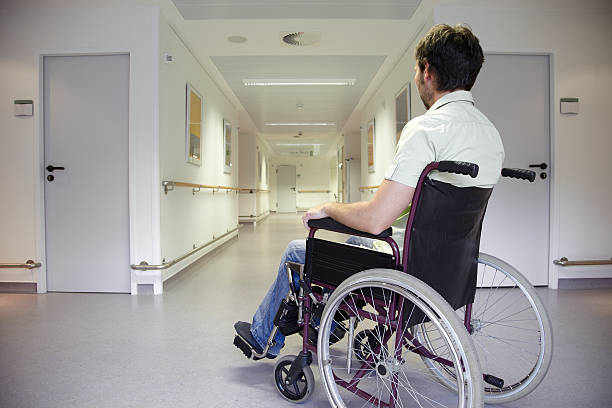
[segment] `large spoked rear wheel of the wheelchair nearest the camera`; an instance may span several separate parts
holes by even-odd
[[[342,323],[335,320],[338,311],[346,313],[349,325],[330,345],[331,329]],[[446,345],[440,351],[458,392],[441,385],[421,363],[420,355],[439,356],[410,335],[415,319],[430,321],[440,346]],[[369,340],[356,341],[364,337],[359,333]],[[455,311],[431,287],[402,272],[371,269],[345,280],[327,301],[317,344],[321,379],[333,407],[483,406],[474,346]]]

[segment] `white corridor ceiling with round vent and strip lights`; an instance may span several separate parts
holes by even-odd
[[[341,132],[359,131],[361,108],[414,38],[418,27],[407,19],[420,1],[173,0],[186,20],[180,35],[238,108],[240,131],[259,134],[281,156],[325,154],[335,150]],[[318,42],[283,43],[283,35],[294,32],[312,33]],[[230,42],[231,36],[246,41]],[[406,82],[412,75],[406,73]],[[244,79],[355,79],[355,84],[245,86]]]

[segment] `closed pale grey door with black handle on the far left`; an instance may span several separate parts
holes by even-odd
[[[48,290],[129,292],[129,56],[43,65]]]

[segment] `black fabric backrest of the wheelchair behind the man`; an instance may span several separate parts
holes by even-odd
[[[455,309],[474,300],[480,233],[491,192],[426,178],[413,208],[404,270],[433,287]]]

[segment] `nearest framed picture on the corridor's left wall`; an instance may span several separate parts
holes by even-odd
[[[204,120],[204,104],[202,95],[187,84],[187,102],[185,119],[185,156],[187,163],[202,165],[202,122]]]

